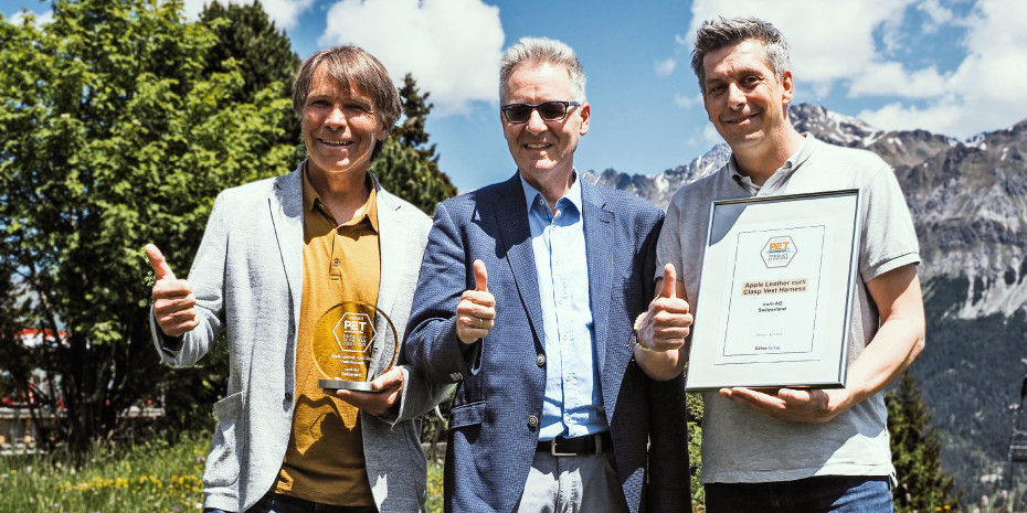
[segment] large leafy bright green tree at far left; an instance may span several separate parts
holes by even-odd
[[[294,164],[292,147],[266,145],[287,100],[233,101],[240,71],[204,75],[216,38],[180,10],[57,0],[42,26],[0,17],[0,268],[27,298],[0,308],[64,333],[35,348],[6,336],[0,356],[46,373],[53,395],[33,409],[60,415],[44,442],[84,449],[159,391],[191,392],[157,363],[140,249],[158,244],[184,274],[216,192]]]

